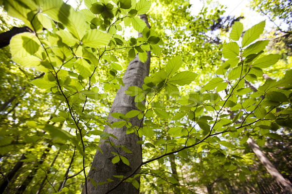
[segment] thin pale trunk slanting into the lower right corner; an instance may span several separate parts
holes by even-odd
[[[275,166],[269,161],[265,154],[260,150],[256,142],[250,137],[247,140],[248,145],[253,149],[257,158],[265,166],[267,171],[277,181],[285,194],[292,194],[292,186],[285,180],[285,178],[279,173]]]

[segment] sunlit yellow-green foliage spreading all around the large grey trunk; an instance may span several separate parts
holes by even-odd
[[[181,25],[178,20],[173,26],[166,24],[161,28],[159,22],[155,23],[161,31],[146,27],[137,15],[148,12],[150,1],[84,2],[87,9],[76,11],[62,0],[3,1],[4,9],[10,16],[21,19],[35,32],[24,32],[12,38],[12,60],[33,74],[44,73],[41,78],[27,79],[31,80],[29,84],[36,86],[27,90],[24,101],[27,98],[28,104],[19,106],[13,114],[5,112],[6,116],[1,117],[1,173],[9,172],[12,169],[9,164],[16,163],[22,153],[26,157],[21,161],[25,164],[16,176],[20,179],[17,178],[12,185],[21,185],[24,182],[21,178],[27,178],[33,172],[28,169],[37,166],[38,174],[34,176],[41,177],[41,180],[44,178],[48,183],[47,193],[80,192],[80,182],[83,184],[87,178],[93,154],[96,149],[100,150],[99,140],[115,138],[113,134],[103,131],[104,126],[108,125],[111,128],[127,126],[127,134],[135,133],[142,138],[137,142],[143,149],[141,172],[132,171],[132,175],[143,176],[146,180],[149,180],[148,176],[155,177],[157,184],[151,182],[149,185],[157,191],[160,186],[172,184],[174,186],[169,191],[181,186],[182,193],[195,192],[193,188],[198,184],[214,184],[225,174],[244,181],[251,174],[247,169],[251,159],[249,154],[237,152],[237,147],[243,145],[248,137],[253,137],[259,146],[263,146],[267,137],[279,138],[275,132],[277,129],[292,127],[291,70],[279,80],[266,80],[257,92],[245,83],[256,83],[265,69],[281,58],[279,54],[264,52],[269,41],[256,41],[264,31],[265,21],[245,32],[243,24],[235,22],[230,32],[230,42],[222,47],[226,62],[219,66],[211,79],[209,75],[202,81],[198,69],[213,70],[219,65],[221,56],[214,56],[205,64],[203,59],[208,58],[212,50],[219,53],[221,46],[204,42],[193,52],[198,56],[184,57],[183,53],[203,42],[200,39],[203,29],[211,28],[220,16],[219,9],[207,19],[203,18],[207,10],[203,9],[201,18],[187,26],[190,32],[197,31],[194,35],[197,38],[188,48],[181,46],[175,53],[171,51],[175,46],[168,44],[167,37],[181,41],[185,37],[169,35],[165,38],[161,31],[168,28],[174,33],[185,29],[178,27]],[[161,3],[167,4],[166,1]],[[186,5],[175,7],[186,14]],[[193,19],[186,17],[183,22],[186,24]],[[128,26],[141,32],[143,37],[127,39],[118,33]],[[166,46],[162,50],[163,42]],[[120,120],[110,122],[106,116],[111,95],[124,84],[121,79],[124,67],[120,59],[122,62],[128,61],[138,54],[139,59],[145,62],[146,51],[149,50],[154,56],[163,55],[163,63],[159,63],[160,68],[155,66],[152,74],[146,77],[143,88],[131,86],[126,91],[127,95],[135,97],[137,110],[125,115],[112,113],[112,117]],[[206,52],[200,53],[202,50]],[[192,60],[195,60],[194,64],[184,66],[183,62]],[[198,62],[200,60],[201,64]],[[214,66],[210,65],[212,61]],[[3,63],[12,65],[9,60]],[[209,80],[206,82],[206,79]],[[203,87],[200,88],[200,84]],[[189,90],[195,87],[195,91]],[[9,91],[14,92],[15,89]],[[19,96],[16,92],[15,95]],[[34,100],[37,101],[35,105]],[[140,126],[132,126],[128,122],[136,116],[144,119]],[[234,143],[237,138],[240,142]],[[127,146],[116,148],[129,153],[131,150]],[[126,157],[112,154],[112,163],[121,161],[129,165]],[[170,155],[182,163],[193,163],[188,165],[192,172],[199,171],[202,166],[204,169],[200,176],[199,173],[190,173],[188,182],[183,184],[164,163],[166,156]],[[210,165],[210,161],[214,165]],[[216,172],[214,166],[222,170]],[[67,172],[61,168],[67,169]],[[206,169],[208,174],[204,171]],[[199,178],[195,179],[196,176]],[[140,187],[133,178],[117,177],[121,181],[132,182],[137,189]],[[34,181],[40,184],[40,180],[35,178]],[[58,189],[54,181],[60,185]],[[91,183],[107,184],[95,183],[94,180]],[[27,191],[36,192],[37,189],[30,184]]]

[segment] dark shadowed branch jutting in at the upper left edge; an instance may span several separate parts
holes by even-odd
[[[23,33],[23,32],[33,32],[29,27],[13,27],[10,31],[0,33],[0,48],[6,47],[9,45],[10,40],[13,36],[15,36],[18,33]]]

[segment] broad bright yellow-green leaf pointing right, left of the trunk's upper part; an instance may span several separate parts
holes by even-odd
[[[110,42],[111,35],[109,33],[101,32],[97,29],[88,31],[83,39],[82,43],[88,47],[96,48],[106,46]]]

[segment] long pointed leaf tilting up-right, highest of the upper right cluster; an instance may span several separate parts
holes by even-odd
[[[248,46],[250,43],[254,42],[259,35],[264,31],[266,21],[261,21],[252,28],[248,29],[241,41],[242,48]]]

